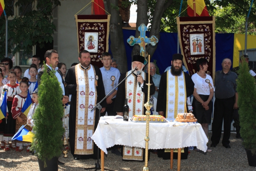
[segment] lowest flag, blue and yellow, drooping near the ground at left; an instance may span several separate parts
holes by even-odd
[[[15,133],[15,135],[12,137],[12,140],[19,140],[19,141],[25,141],[25,142],[32,142],[34,133],[24,128],[26,125],[22,125],[20,129]]]

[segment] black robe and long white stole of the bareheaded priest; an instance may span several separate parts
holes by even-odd
[[[90,111],[105,97],[102,73],[98,67],[87,68],[77,64],[69,69],[65,77],[65,90],[71,94],[69,137],[70,151],[80,159],[96,159],[98,147],[91,136],[99,122],[99,110]],[[106,101],[101,103],[106,107]]]

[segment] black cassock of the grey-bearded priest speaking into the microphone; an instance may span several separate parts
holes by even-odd
[[[136,76],[136,74],[132,73],[134,76]],[[126,72],[123,73],[122,75],[120,75],[119,81],[118,83],[120,83],[124,78],[126,77]],[[128,78],[127,78],[128,79]],[[148,73],[145,72],[145,79],[143,82],[143,88],[141,87],[141,91],[144,93],[144,103],[146,103],[148,101]],[[137,82],[136,82],[137,84]],[[150,75],[150,84],[152,84],[150,86],[150,95],[154,94],[155,92],[155,86],[152,80],[152,77]],[[123,107],[125,105],[125,81],[122,82],[122,84],[119,85],[119,87],[117,88],[117,93],[116,93],[116,101],[115,101],[115,105],[114,105],[114,111],[115,112],[123,112]],[[129,106],[129,104],[128,104]],[[146,108],[144,107],[144,114],[145,114]]]

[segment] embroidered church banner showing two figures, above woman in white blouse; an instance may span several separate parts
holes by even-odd
[[[215,17],[177,17],[178,38],[183,62],[193,75],[198,71],[196,61],[206,58],[207,74],[215,78]]]

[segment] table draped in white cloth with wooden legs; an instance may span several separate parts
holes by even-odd
[[[102,171],[104,171],[104,152],[108,154],[107,148],[114,145],[145,148],[145,122],[132,122],[130,119],[125,122],[123,119],[114,119],[114,116],[108,116],[108,118],[110,119],[100,118],[99,124],[91,137],[102,150]],[[207,151],[207,136],[201,124],[195,122],[150,122],[149,139],[148,149],[178,148],[178,170],[181,148],[196,146],[199,150]]]

